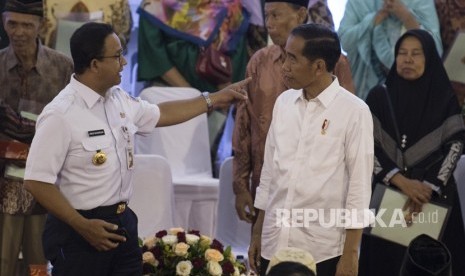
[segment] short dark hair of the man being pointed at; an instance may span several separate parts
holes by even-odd
[[[308,23],[295,27],[291,35],[305,40],[303,56],[312,61],[321,58],[328,72],[334,70],[341,56],[341,43],[336,32],[322,24]]]

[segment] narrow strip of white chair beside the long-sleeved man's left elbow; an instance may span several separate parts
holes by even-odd
[[[224,245],[231,245],[236,256],[247,259],[250,244],[251,224],[241,221],[236,213],[232,188],[232,164],[234,157],[228,157],[220,167],[220,199],[218,203],[218,227],[216,238]]]

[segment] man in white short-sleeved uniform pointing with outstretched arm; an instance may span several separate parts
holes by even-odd
[[[132,193],[134,135],[244,100],[233,84],[211,97],[149,104],[121,90],[126,65],[112,27],[87,23],[70,40],[75,74],[37,120],[25,187],[49,212],[53,275],[141,275]]]

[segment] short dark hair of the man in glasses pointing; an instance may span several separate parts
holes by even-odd
[[[92,59],[103,55],[105,39],[114,32],[109,24],[89,22],[73,33],[69,44],[76,74],[84,73]]]

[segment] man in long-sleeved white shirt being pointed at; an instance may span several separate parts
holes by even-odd
[[[298,26],[285,51],[282,73],[292,89],[273,110],[250,263],[264,275],[273,254],[290,246],[315,257],[319,276],[355,276],[362,229],[373,218],[371,113],[330,73],[341,53],[335,32]]]

